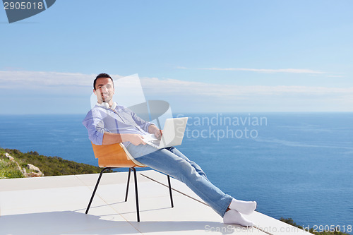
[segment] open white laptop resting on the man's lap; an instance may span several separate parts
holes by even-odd
[[[187,117],[167,119],[164,123],[162,138],[156,138],[155,134],[143,135],[143,141],[158,149],[181,145],[187,122]]]

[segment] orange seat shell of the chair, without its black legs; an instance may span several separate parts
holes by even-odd
[[[100,167],[146,167],[133,159],[122,143],[113,145],[92,143],[92,147]]]

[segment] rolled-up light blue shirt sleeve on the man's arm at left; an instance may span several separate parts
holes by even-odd
[[[91,109],[82,123],[88,130],[88,138],[90,141],[95,145],[102,145],[104,131],[110,132],[104,128],[102,114],[95,109]]]

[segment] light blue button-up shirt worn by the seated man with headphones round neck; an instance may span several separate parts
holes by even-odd
[[[133,133],[146,135],[148,127],[153,123],[140,119],[131,109],[116,103],[112,108],[96,104],[83,119],[83,126],[88,130],[88,138],[95,145],[102,145],[104,131],[110,133]],[[126,147],[130,142],[123,143]]]

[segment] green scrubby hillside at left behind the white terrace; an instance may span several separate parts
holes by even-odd
[[[14,158],[14,161],[5,156],[6,152]],[[19,150],[0,148],[0,179],[24,177],[21,169],[26,169],[28,164],[39,167],[44,176],[93,174],[102,170],[100,167],[68,161],[61,157],[39,155],[38,152],[23,153]]]

